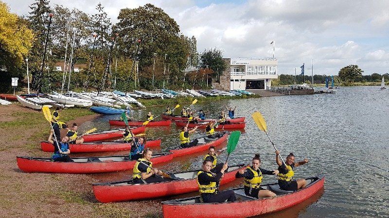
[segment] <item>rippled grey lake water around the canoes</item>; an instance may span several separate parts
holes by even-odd
[[[235,116],[246,116],[246,129],[230,156],[229,164],[250,163],[254,154],[259,153],[263,168],[277,168],[273,146],[251,118],[252,112],[258,110],[263,114],[268,133],[283,157],[293,152],[296,161],[304,157],[310,159],[308,164],[295,169],[295,177],[326,175],[324,190],[313,198],[266,217],[389,216],[389,168],[386,166],[389,158],[389,90],[381,91],[377,86],[359,86],[341,87],[336,91],[335,94],[285,95],[216,102],[201,102],[199,99],[193,106],[196,110],[203,109],[208,117],[215,117],[220,110],[225,110],[225,105],[238,106]],[[147,111],[158,115],[164,109],[155,107],[135,110],[133,116],[145,120]],[[118,117],[101,116],[80,125],[80,128],[109,129],[107,120]],[[179,143],[179,129],[174,124],[146,129],[150,139],[163,137],[162,150]],[[191,138],[202,135],[204,131],[198,130]],[[121,155],[127,152],[109,154]],[[199,169],[203,154],[183,156],[157,167],[165,171]],[[225,158],[224,153],[219,160]],[[130,174],[131,171],[125,171],[90,176],[101,181],[116,181],[127,179]],[[276,177],[265,175],[264,184],[272,182],[276,182]],[[239,185],[240,181],[233,182],[225,188]],[[193,195],[196,193],[189,194]]]

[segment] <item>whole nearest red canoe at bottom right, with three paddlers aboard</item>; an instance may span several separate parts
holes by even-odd
[[[307,200],[324,187],[322,175],[306,180],[309,185],[298,191],[283,191],[278,184],[261,186],[277,194],[271,198],[251,198],[245,195],[243,188],[235,188],[232,190],[238,199],[236,202],[201,203],[200,197],[165,201],[162,202],[163,217],[181,218],[183,211],[191,218],[246,218],[273,213]]]

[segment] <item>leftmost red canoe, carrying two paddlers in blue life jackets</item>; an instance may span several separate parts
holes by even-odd
[[[153,155],[153,164],[169,161],[173,154]],[[24,172],[100,173],[127,171],[134,168],[135,160],[128,156],[73,157],[74,162],[54,162],[51,158],[17,156],[18,167]]]

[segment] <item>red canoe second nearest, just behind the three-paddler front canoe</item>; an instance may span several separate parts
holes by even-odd
[[[235,179],[237,171],[245,165],[230,166],[220,184],[226,184]],[[93,193],[99,202],[123,202],[140,199],[159,198],[198,191],[196,181],[198,171],[184,171],[169,174],[174,180],[166,179],[161,183],[132,184],[129,181],[93,184]],[[130,183],[130,184],[128,184]]]

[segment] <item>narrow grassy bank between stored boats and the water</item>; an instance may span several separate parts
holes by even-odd
[[[243,94],[241,96],[210,96],[210,97],[177,97],[177,98],[168,98],[168,99],[138,99],[139,102],[142,103],[142,105],[146,107],[153,107],[153,106],[161,106],[161,105],[177,105],[177,104],[183,104],[183,103],[190,103],[193,102],[193,100],[197,99],[201,102],[205,101],[219,101],[224,99],[245,99],[245,98],[258,98],[261,97],[261,95],[258,94],[251,94],[246,95]]]

